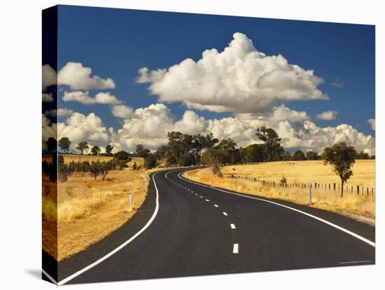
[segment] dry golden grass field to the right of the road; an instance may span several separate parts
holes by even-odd
[[[235,169],[235,170],[233,170]],[[351,185],[359,185],[374,188],[374,160],[358,160],[353,166],[353,178],[349,179],[349,191],[344,192],[344,198],[340,198],[338,191],[328,191],[325,188],[313,188],[312,206],[320,209],[326,209],[332,212],[364,214],[374,217],[375,198],[365,194],[357,195],[354,191],[351,193]],[[297,162],[275,162],[261,163],[255,165],[236,165],[226,166],[222,169],[223,178],[212,174],[211,169],[204,168],[200,170],[191,170],[183,174],[186,178],[199,181],[211,186],[228,188],[235,190],[235,180],[231,179],[231,174],[235,177],[251,177],[274,181],[279,184],[283,176],[286,177],[289,184],[294,183],[339,183],[338,177],[335,177],[330,166],[323,165],[322,161],[297,161]],[[355,189],[354,189],[355,190]],[[309,190],[307,188],[275,188],[262,186],[259,182],[248,181],[244,179],[237,180],[237,191],[260,195],[266,198],[277,198],[288,200],[301,205],[309,203]]]

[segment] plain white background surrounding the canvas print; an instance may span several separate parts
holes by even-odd
[[[41,9],[57,1],[3,0],[0,8],[0,287],[48,289],[41,268]],[[82,284],[82,289],[380,289],[384,287],[384,8],[381,1],[93,0],[59,4],[376,25],[377,265]],[[382,11],[382,13],[381,13]],[[315,36],[316,37],[316,36]],[[359,39],[358,39],[359,41]],[[362,55],[365,57],[365,55]],[[354,62],[354,60],[351,60]],[[381,111],[380,111],[381,110]],[[378,210],[380,209],[380,210]],[[382,275],[382,276],[381,276]],[[382,288],[384,289],[384,288]]]

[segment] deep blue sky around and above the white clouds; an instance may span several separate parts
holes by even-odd
[[[320,127],[344,123],[374,137],[367,122],[374,118],[374,26],[59,6],[58,27],[58,69],[80,62],[92,68],[92,74],[112,78],[116,88],[104,91],[133,109],[157,102],[148,83],[135,82],[138,69],[167,69],[188,57],[200,60],[204,50],[221,52],[232,35],[241,32],[258,51],[281,54],[290,64],[312,69],[323,79],[318,89],[329,100],[286,102],[288,108],[306,111]],[[336,82],[339,85],[332,85]],[[89,91],[94,95],[100,90]],[[93,112],[115,130],[122,125],[109,106],[63,102],[61,97],[60,107],[85,115]],[[181,102],[166,105],[177,119],[186,111]],[[337,111],[334,120],[315,118],[330,110]],[[207,119],[234,116],[231,111],[193,111]]]

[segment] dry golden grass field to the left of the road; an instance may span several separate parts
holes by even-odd
[[[98,156],[84,157],[90,162],[102,161]],[[71,160],[71,156],[64,157],[65,163]],[[134,158],[129,166],[134,162],[139,165],[143,159]],[[58,182],[57,189],[55,183],[43,177],[43,249],[61,261],[102,240],[128,221],[144,202],[148,174],[155,171],[134,171],[130,167],[109,172],[105,181],[101,177],[94,181],[89,174],[73,174],[68,181]],[[132,191],[132,211],[128,210],[129,191]]]

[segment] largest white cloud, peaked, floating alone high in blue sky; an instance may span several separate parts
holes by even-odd
[[[188,108],[235,113],[268,111],[276,102],[328,99],[318,90],[322,78],[289,64],[282,55],[259,52],[246,35],[235,33],[221,53],[205,50],[168,69],[139,69],[137,83],[149,83],[158,102],[183,102]]]

